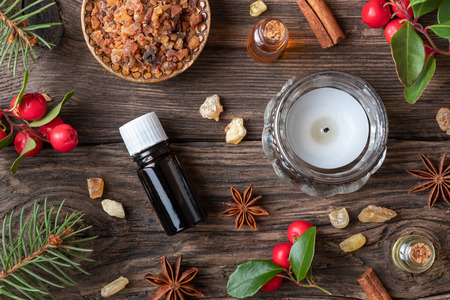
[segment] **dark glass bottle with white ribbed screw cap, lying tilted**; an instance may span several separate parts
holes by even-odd
[[[167,235],[173,235],[206,218],[168,137],[154,112],[122,127],[120,134],[138,164],[138,176]]]

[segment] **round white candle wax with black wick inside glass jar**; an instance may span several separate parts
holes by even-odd
[[[334,169],[351,163],[364,150],[369,122],[353,96],[335,88],[318,88],[292,105],[286,134],[303,161]]]

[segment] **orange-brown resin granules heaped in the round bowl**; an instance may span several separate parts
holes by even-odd
[[[200,45],[198,0],[99,0],[91,12],[92,42],[124,71],[159,76],[189,61]]]

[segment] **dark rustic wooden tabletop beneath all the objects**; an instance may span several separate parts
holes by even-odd
[[[179,254],[185,258],[184,266],[200,269],[194,283],[208,298],[225,299],[235,267],[250,259],[270,259],[272,247],[286,241],[288,225],[299,219],[317,226],[314,274],[333,296],[285,283],[277,292],[259,292],[254,299],[366,299],[357,278],[370,267],[394,298],[450,297],[450,206],[438,200],[429,210],[426,193],[408,194],[417,180],[405,172],[422,168],[419,152],[437,161],[448,151],[448,137],[438,128],[435,115],[450,103],[449,59],[438,60],[422,99],[410,105],[403,98],[383,30],[369,29],[361,21],[364,1],[327,1],[347,38],[323,50],[295,1],[267,0],[269,10],[253,18],[248,14],[250,0],[213,0],[211,33],[194,65],[166,82],[134,84],[108,73],[90,54],[80,26],[81,0],[57,2],[65,26],[62,44],[39,54],[39,63],[30,67],[27,91],[46,92],[59,100],[75,89],[62,117],[78,130],[80,144],[69,154],[46,147],[39,156],[24,159],[16,176],[8,171],[16,157],[14,148],[3,151],[0,216],[44,197],[52,204],[67,198],[67,208],[86,212],[86,223],[94,226],[91,234],[99,235],[92,244],[96,262],[84,264],[92,275],[76,275],[79,286],[55,291],[58,299],[99,299],[101,287],[121,275],[130,284],[112,299],[147,299],[155,287],[142,280],[144,274],[159,272],[160,256],[173,262]],[[270,65],[251,60],[245,47],[252,26],[262,17],[281,18],[291,36],[281,59]],[[278,179],[260,139],[272,95],[292,76],[322,69],[367,80],[383,99],[390,126],[386,160],[366,186],[352,194],[315,199]],[[2,106],[19,91],[22,74],[23,69],[13,79],[2,68]],[[216,93],[225,109],[217,123],[198,113],[205,97]],[[160,117],[209,214],[206,222],[172,237],[159,225],[118,130],[150,111]],[[224,127],[234,116],[243,117],[248,130],[237,146],[224,142]],[[89,198],[89,177],[105,180],[103,198],[122,202],[126,219],[109,217],[99,200]],[[230,186],[242,191],[250,182],[255,194],[263,195],[260,205],[270,215],[257,218],[257,232],[245,226],[237,231],[233,218],[219,216],[226,209],[222,202],[231,200]],[[398,216],[386,224],[360,223],[357,215],[369,204],[394,209]],[[333,228],[328,219],[328,213],[340,207],[346,207],[351,217],[345,230]],[[367,244],[343,253],[339,242],[359,232],[367,236]],[[428,236],[437,248],[437,260],[423,274],[403,272],[390,258],[395,240],[410,233]]]

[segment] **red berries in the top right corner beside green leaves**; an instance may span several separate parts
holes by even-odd
[[[414,13],[410,7],[409,0],[370,0],[362,10],[362,20],[370,28],[384,28],[384,36],[390,44],[392,37],[397,33],[400,27],[408,20],[414,19]],[[392,10],[392,12],[391,12]],[[391,18],[393,18],[391,20]],[[425,57],[432,54],[433,50],[430,45],[423,41],[425,47]]]

